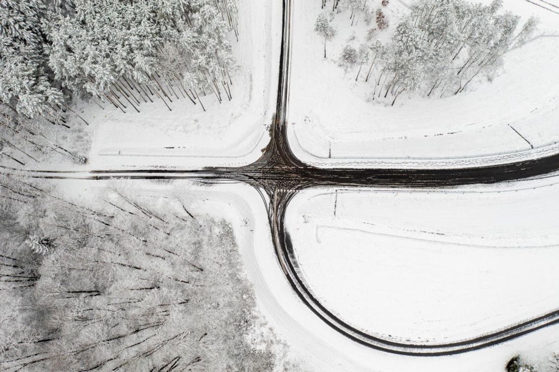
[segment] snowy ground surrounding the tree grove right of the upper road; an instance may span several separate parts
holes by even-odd
[[[380,2],[372,4],[376,9]],[[514,130],[534,147],[559,141],[559,8],[546,6],[557,12],[528,1],[505,0],[504,8],[522,16],[521,22],[530,15],[539,17],[536,35],[541,37],[511,50],[492,83],[482,82],[466,93],[443,99],[402,98],[390,107],[368,102],[372,82],[361,78],[356,82],[357,68],[345,73],[337,64],[343,46],[358,47],[374,20],[371,25],[360,20],[352,27],[348,12],[337,15],[338,35],[326,43],[325,60],[323,43],[314,31],[320,3],[295,2],[289,112],[289,121],[294,123],[289,129],[293,150],[302,160],[323,166],[452,166],[448,161],[407,158],[530,150]],[[387,9],[392,25],[406,12],[401,1],[391,1]],[[380,32],[381,39],[387,39],[386,32]],[[367,68],[363,67],[365,73]],[[550,151],[556,151],[555,147]],[[520,154],[530,156],[530,151]],[[470,159],[466,164],[484,162]]]

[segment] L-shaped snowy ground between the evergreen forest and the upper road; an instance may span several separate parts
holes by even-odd
[[[142,103],[140,113],[131,107],[122,113],[108,104],[103,110],[94,103],[77,103],[74,109],[93,132],[91,167],[196,168],[257,159],[274,114],[281,20],[281,2],[239,2],[239,41],[231,35],[238,63],[231,74],[233,99],[220,104],[214,96],[201,97],[206,112],[178,92],[181,99],[169,104],[173,111],[160,99]]]

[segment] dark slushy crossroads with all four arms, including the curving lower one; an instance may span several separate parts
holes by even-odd
[[[559,154],[543,158],[493,164],[475,168],[452,169],[321,169],[303,163],[293,155],[287,141],[286,117],[289,93],[289,60],[291,40],[291,1],[283,2],[283,30],[280,78],[276,119],[270,130],[271,139],[263,154],[254,163],[235,168],[214,167],[200,170],[127,169],[93,171],[25,170],[35,178],[54,179],[195,179],[201,182],[243,182],[252,185],[266,204],[274,249],[283,273],[299,298],[324,322],[338,332],[373,349],[402,355],[451,355],[500,344],[559,323],[559,311],[536,316],[499,331],[489,331],[467,340],[420,344],[395,342],[369,335],[348,325],[329,312],[316,299],[301,279],[293,256],[291,239],[284,220],[286,208],[300,190],[310,187],[385,187],[385,188],[444,188],[469,184],[492,184],[511,180],[542,178],[559,170]],[[4,171],[18,170],[3,167]],[[559,305],[559,304],[558,304]]]

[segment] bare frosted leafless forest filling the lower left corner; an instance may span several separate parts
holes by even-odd
[[[1,370],[299,370],[255,312],[231,227],[184,192],[0,187]]]

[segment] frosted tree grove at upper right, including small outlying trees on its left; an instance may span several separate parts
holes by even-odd
[[[356,69],[356,81],[360,77],[364,82],[372,80],[372,99],[390,97],[391,105],[402,94],[445,97],[465,92],[476,78],[491,81],[505,53],[529,40],[538,23],[530,17],[520,25],[519,16],[503,11],[503,0],[485,6],[465,0],[418,0],[399,20],[387,18],[389,1],[377,2],[376,10],[370,4],[333,0],[328,8],[324,0],[315,31],[324,37],[326,46],[326,40],[335,35],[334,17],[349,14],[347,27],[359,21],[370,24],[367,41],[346,45],[340,65]]]

